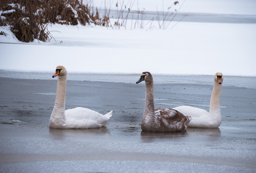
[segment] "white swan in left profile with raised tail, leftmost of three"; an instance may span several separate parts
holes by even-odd
[[[55,104],[50,116],[50,127],[87,129],[104,126],[112,116],[112,111],[106,115],[83,107],[76,107],[65,111],[66,74],[65,67],[58,66],[56,73],[53,75],[53,78],[58,76],[58,85]]]

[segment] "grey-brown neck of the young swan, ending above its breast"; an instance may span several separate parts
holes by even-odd
[[[154,112],[154,82],[153,79],[150,81],[145,81],[146,84],[146,94],[145,94],[145,107],[143,112],[144,116],[155,116]]]

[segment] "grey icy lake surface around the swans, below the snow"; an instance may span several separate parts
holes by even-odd
[[[145,83],[134,83],[140,74],[91,74],[84,81],[86,74],[76,75],[80,78],[74,80],[75,74],[71,73],[66,109],[82,106],[101,113],[113,110],[113,116],[106,127],[98,129],[50,129],[57,87],[57,79],[50,79],[54,72],[41,73],[42,76],[38,72],[25,73],[23,75],[31,79],[0,78],[0,172],[240,173],[256,170],[256,90],[227,86],[228,77],[224,76],[223,81],[219,128],[145,133],[140,128]],[[194,84],[190,80],[208,77],[209,84]],[[170,78],[168,83],[161,83],[165,78]],[[122,82],[124,79],[126,83]],[[209,110],[213,76],[177,75],[173,79],[172,75],[155,75],[154,79],[159,81],[154,86],[155,107],[193,105]]]

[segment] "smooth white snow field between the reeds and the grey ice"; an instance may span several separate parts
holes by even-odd
[[[179,22],[173,29],[49,26],[55,41],[0,44],[0,69],[256,76],[256,24]],[[1,35],[1,37],[4,37]]]

